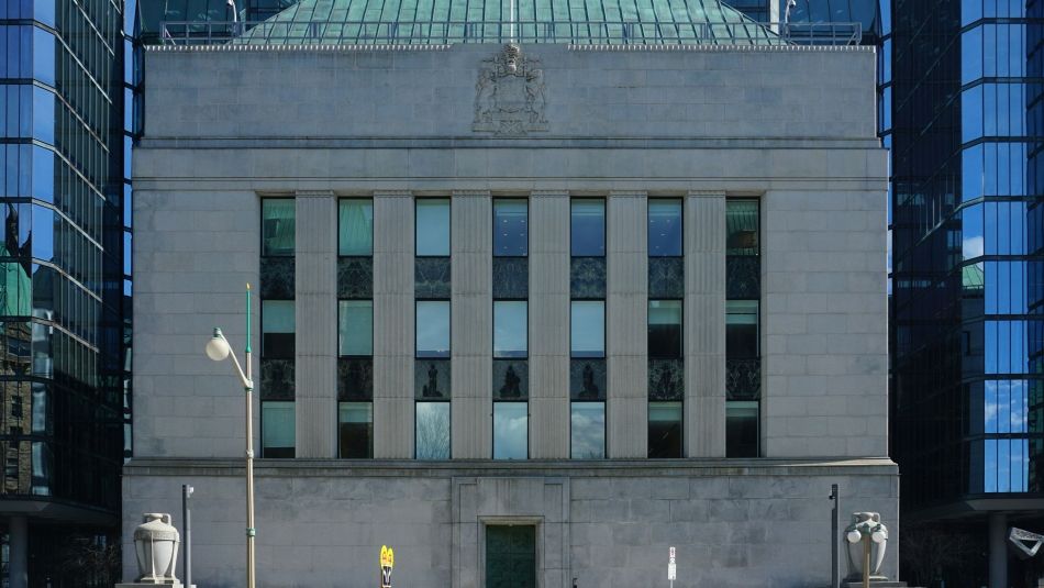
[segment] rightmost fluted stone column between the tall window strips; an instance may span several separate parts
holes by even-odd
[[[725,192],[685,204],[685,444],[725,456]]]

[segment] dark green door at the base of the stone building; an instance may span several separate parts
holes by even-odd
[[[536,526],[486,528],[486,588],[536,588]]]

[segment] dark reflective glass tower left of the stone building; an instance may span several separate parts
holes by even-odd
[[[114,579],[130,410],[123,4],[0,3],[0,581],[12,588]]]

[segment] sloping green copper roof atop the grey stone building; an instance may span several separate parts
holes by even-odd
[[[248,25],[251,26],[251,25]],[[234,43],[782,45],[719,0],[301,0]]]

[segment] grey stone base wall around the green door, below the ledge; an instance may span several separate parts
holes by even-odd
[[[124,470],[124,579],[143,512],[180,528],[191,484],[195,584],[242,588],[242,463],[136,459]],[[842,523],[877,511],[891,534],[885,572],[896,577],[899,479],[888,459],[845,462],[444,463],[258,461],[257,586],[378,585],[382,544],[396,552],[393,584],[484,586],[486,524],[537,525],[541,588],[666,585],[820,588],[830,580],[831,484]],[[844,557],[842,555],[842,557]],[[842,559],[844,563],[844,559]],[[182,576],[178,564],[178,576]],[[842,570],[845,574],[846,570]],[[184,578],[182,578],[184,579]]]

